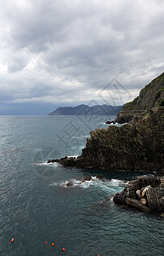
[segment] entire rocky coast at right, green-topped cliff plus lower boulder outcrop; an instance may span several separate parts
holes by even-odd
[[[127,123],[121,127],[111,123]],[[107,130],[90,132],[82,154],[48,160],[63,166],[91,167],[108,171],[157,172],[137,177],[114,202],[144,212],[164,212],[164,73],[146,85],[127,103]]]

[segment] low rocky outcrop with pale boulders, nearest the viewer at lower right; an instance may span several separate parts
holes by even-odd
[[[164,175],[164,170],[162,173]],[[113,201],[143,212],[164,212],[164,176],[136,177]]]

